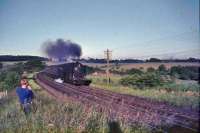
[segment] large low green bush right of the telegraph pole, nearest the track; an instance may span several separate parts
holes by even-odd
[[[145,73],[145,74],[134,74],[126,76],[120,80],[120,83],[125,86],[137,86],[139,88],[143,87],[155,87],[163,85],[164,81],[160,75],[156,73]]]

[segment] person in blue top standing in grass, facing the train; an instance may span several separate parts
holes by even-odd
[[[29,114],[34,94],[27,79],[22,79],[20,84],[21,86],[16,88],[16,93],[24,113]]]

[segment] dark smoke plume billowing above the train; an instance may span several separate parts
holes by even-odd
[[[82,54],[81,46],[70,40],[57,39],[56,41],[46,41],[42,48],[48,57],[58,60],[79,58]]]

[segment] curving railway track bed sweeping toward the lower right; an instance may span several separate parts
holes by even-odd
[[[48,90],[51,88],[51,90],[83,103],[98,104],[100,107],[113,110],[115,114],[125,116],[130,122],[145,123],[151,128],[170,125],[181,127],[189,132],[199,131],[199,114],[192,110],[88,86],[56,83],[42,72],[37,74],[36,81]]]

